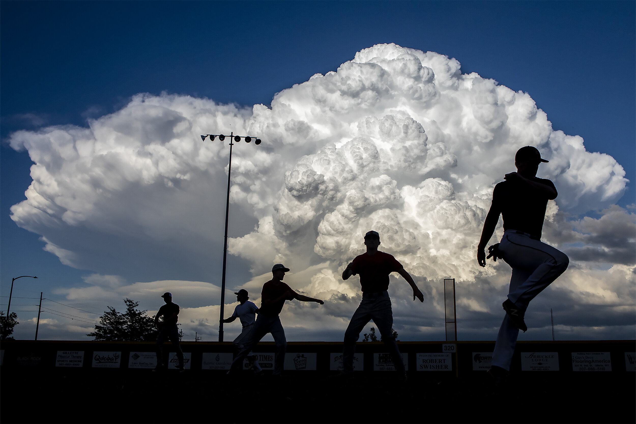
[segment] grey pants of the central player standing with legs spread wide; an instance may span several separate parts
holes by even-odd
[[[391,309],[391,298],[389,292],[362,293],[362,301],[357,307],[354,316],[351,317],[349,326],[345,331],[345,346],[342,352],[342,368],[344,373],[354,371],[354,353],[356,353],[356,342],[360,338],[360,332],[368,322],[373,320],[377,325],[382,341],[389,348],[389,353],[393,358],[396,371],[404,373],[404,362],[399,353],[395,337],[391,331],[393,327],[393,311]]]

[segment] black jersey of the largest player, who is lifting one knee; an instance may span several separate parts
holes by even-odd
[[[555,189],[550,180],[534,178],[534,181]],[[499,220],[504,218],[504,230],[517,230],[541,238],[543,221],[546,217],[548,197],[519,181],[501,181],[492,192],[492,205],[488,216]]]

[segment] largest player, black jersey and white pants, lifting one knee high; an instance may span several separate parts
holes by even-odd
[[[557,195],[552,181],[536,177],[541,162],[548,161],[541,159],[539,150],[532,146],[516,152],[517,171],[506,174],[506,181],[495,185],[492,206],[477,248],[480,266],[484,267],[486,259],[492,257],[495,261],[505,260],[513,269],[508,299],[502,304],[506,316],[497,334],[492,367],[488,370],[498,383],[508,375],[519,330],[528,329],[523,318],[530,300],[555,281],[570,262],[565,253],[541,242],[548,200],[556,199]],[[500,243],[488,248],[486,257],[484,249],[500,214],[504,220],[504,236]]]

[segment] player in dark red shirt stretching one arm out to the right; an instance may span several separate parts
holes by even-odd
[[[228,374],[233,374],[233,372],[238,371],[241,368],[243,358],[265,337],[265,334],[271,333],[274,338],[274,343],[276,344],[276,356],[274,358],[274,371],[272,376],[280,376],[285,363],[285,352],[287,350],[285,330],[282,328],[279,317],[285,300],[296,299],[301,302],[317,302],[324,305],[322,300],[298,294],[294,292],[291,287],[283,283],[282,279],[285,277],[285,272],[289,272],[289,268],[286,268],[283,264],[276,264],[272,267],[273,277],[263,285],[261,307],[258,309],[258,318],[256,318],[254,330],[252,330],[249,340],[245,341],[243,349],[240,350],[237,357],[234,358]]]

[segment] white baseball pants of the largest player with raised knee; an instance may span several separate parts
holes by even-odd
[[[504,231],[499,253],[513,269],[508,299],[523,311],[528,308],[530,300],[563,274],[570,263],[562,251],[516,230]],[[497,334],[492,365],[509,371],[518,335],[519,329],[506,314]]]

